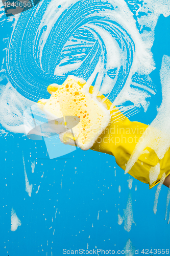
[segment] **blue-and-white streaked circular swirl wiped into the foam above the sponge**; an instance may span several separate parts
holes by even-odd
[[[20,14],[8,49],[10,81],[23,96],[37,101],[48,97],[48,84],[62,84],[69,74],[88,80],[102,58],[95,73],[98,76],[98,72],[103,70],[100,87],[104,88],[105,93],[111,92],[115,83],[110,95],[114,100],[125,86],[134,58],[134,41],[126,28],[126,21],[130,19],[130,30],[137,32],[131,12],[126,14],[128,7],[124,1],[121,4],[118,1],[114,4],[106,1],[62,1],[61,8],[58,8],[60,2],[56,6],[55,1],[43,1],[34,9]],[[125,28],[120,25],[119,14],[125,16]],[[107,35],[103,38],[102,34]],[[111,61],[109,57],[113,44],[112,40],[107,39],[108,36],[114,41],[118,52],[116,61]],[[140,37],[138,41],[148,56]],[[17,65],[18,59],[20,67]],[[59,67],[63,66],[64,73],[61,74]],[[106,89],[108,82],[110,88]]]

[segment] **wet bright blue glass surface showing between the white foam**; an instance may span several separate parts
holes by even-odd
[[[132,0],[126,3],[134,15],[139,33],[149,31],[147,26],[141,28],[138,23],[139,16],[146,14],[139,13],[137,17],[137,11],[144,2]],[[107,1],[90,0],[70,4],[52,27],[40,63],[38,46],[41,35],[47,28],[43,26],[37,37],[35,32],[49,4],[50,1],[42,1],[36,7],[21,13],[14,33],[12,26],[15,17],[7,17],[3,7],[1,8],[1,92],[10,82],[19,94],[31,99],[34,104],[40,98],[49,97],[46,88],[50,83],[62,84],[69,74],[87,80],[95,63],[101,58],[105,69],[102,79],[105,74],[113,80],[116,79],[114,90],[110,94],[113,101],[125,86],[135,54],[134,41],[126,29],[109,17],[99,15],[101,9],[116,10],[116,5]],[[61,6],[58,5],[57,8],[60,9]],[[87,15],[84,8],[88,9]],[[91,18],[91,13],[96,14],[95,18]],[[72,20],[74,15],[77,19]],[[71,29],[67,23],[61,24],[61,19],[67,20],[68,16],[70,23],[72,22]],[[87,22],[103,26],[112,33],[119,48],[125,50],[126,66],[122,63],[119,69],[107,70],[105,45],[102,44],[101,48],[92,33],[85,31],[85,28],[82,30]],[[131,121],[149,124],[157,114],[157,107],[162,101],[159,76],[161,61],[164,54],[169,55],[169,26],[169,17],[160,15],[152,47],[156,69],[149,76],[136,73],[132,77],[134,82],[152,88],[155,95],[149,98],[147,112],[139,108],[136,115],[129,117]],[[60,37],[62,30],[66,31],[63,38]],[[77,45],[71,49],[72,55],[68,56],[67,43],[72,34],[75,38],[86,41],[87,46]],[[78,60],[82,61],[79,68],[67,71],[63,76],[54,75],[58,63],[63,61],[65,66]],[[131,104],[129,101],[124,103],[125,106]],[[113,156],[90,150],[84,152],[80,148],[74,148],[74,151],[63,155],[63,148],[66,151],[67,146],[60,143],[61,147],[57,147],[57,152],[61,156],[56,157],[55,146],[47,151],[47,143],[51,145],[50,140],[54,137],[48,141],[31,140],[26,135],[12,133],[3,126],[0,139],[2,255],[60,256],[63,255],[63,249],[103,249],[114,250],[116,253],[124,250],[129,239],[133,245],[131,248],[138,250],[140,255],[143,254],[143,249],[144,252],[148,249],[149,255],[159,254],[158,249],[169,249],[168,216],[164,220],[168,191],[166,187],[161,188],[155,215],[153,205],[157,187],[149,190],[147,184],[133,179],[130,189],[130,175],[124,175]],[[58,137],[56,144],[57,141]],[[28,191],[31,184],[30,196]],[[128,202],[132,203],[135,222],[129,232],[124,228],[125,221],[118,224],[118,213],[120,217],[125,215]],[[11,231],[12,208],[21,222],[15,231]]]

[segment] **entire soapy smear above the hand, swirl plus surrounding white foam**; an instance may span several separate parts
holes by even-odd
[[[3,58],[0,80],[4,84],[7,77],[9,82],[1,90],[0,105],[6,106],[8,87],[19,94],[13,91],[10,112],[3,108],[2,125],[24,133],[24,109],[32,101],[48,98],[47,86],[62,84],[69,74],[92,81],[115,105],[130,101],[147,111],[156,93],[149,77],[155,69],[154,29],[159,15],[170,13],[169,2],[147,2],[60,0],[56,5],[55,0],[41,1],[16,15]],[[5,20],[10,24],[14,19]]]

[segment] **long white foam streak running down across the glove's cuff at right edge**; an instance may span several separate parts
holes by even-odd
[[[141,136],[132,153],[126,171],[128,173],[135,164],[145,147],[151,147],[159,159],[162,159],[170,146],[170,57],[164,55],[160,70],[162,84],[162,104],[158,109],[158,115]]]

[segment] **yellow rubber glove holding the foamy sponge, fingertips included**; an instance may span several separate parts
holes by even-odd
[[[78,82],[81,87],[85,83]],[[47,91],[52,94],[58,89],[57,84],[48,86]],[[89,92],[93,92],[93,87],[90,86]],[[110,109],[112,103],[105,96],[97,97],[99,101],[103,101],[107,109]],[[38,101],[39,106],[45,105],[45,100]],[[106,153],[115,157],[116,163],[122,169],[126,169],[126,164],[132,155],[135,146],[147,129],[148,125],[140,122],[131,122],[125,115],[123,115],[116,107],[110,111],[111,122],[105,131],[98,137],[96,142],[91,147],[91,150]],[[72,139],[70,135],[70,139]],[[68,137],[66,138],[66,140]],[[152,148],[145,148],[144,152],[133,165],[129,174],[137,180],[148,183],[150,188],[157,185],[163,173],[166,177],[170,174],[170,151],[168,150],[162,160],[158,158]],[[156,167],[155,167],[156,166]],[[158,168],[157,168],[158,166]],[[156,177],[156,178],[155,178]],[[151,184],[150,184],[151,183]]]

